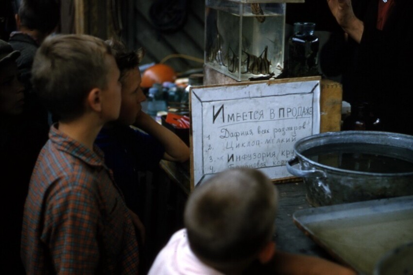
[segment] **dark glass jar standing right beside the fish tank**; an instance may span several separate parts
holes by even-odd
[[[288,74],[290,77],[316,76],[319,40],[314,35],[315,23],[294,23],[294,34],[288,40]]]

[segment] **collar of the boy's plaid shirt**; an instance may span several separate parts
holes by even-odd
[[[92,151],[80,142],[70,138],[67,134],[59,131],[57,126],[57,123],[52,125],[49,132],[49,138],[59,150],[67,152],[89,165],[105,167],[104,154],[98,146],[93,145]]]

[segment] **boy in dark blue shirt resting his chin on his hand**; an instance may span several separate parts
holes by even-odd
[[[96,144],[104,152],[105,163],[112,169],[116,184],[124,194],[126,205],[146,222],[150,219],[145,209],[149,198],[146,197],[145,182],[141,182],[142,171],[159,169],[161,159],[185,162],[189,159],[189,148],[172,131],[141,110],[140,103],[146,100],[140,88],[142,78],[138,67],[143,58],[143,49],[128,50],[120,40],[115,38],[106,43],[110,45],[120,69],[122,100],[119,118],[103,127],[96,139]],[[149,234],[155,231],[151,230],[151,225],[151,222],[145,223]],[[139,228],[139,233],[141,239],[144,240],[143,224]],[[153,260],[155,252],[151,252],[157,252],[160,249],[155,244],[158,238],[151,235],[149,237],[144,247],[146,253],[140,250],[142,273],[146,273],[148,268],[144,264],[145,259]]]

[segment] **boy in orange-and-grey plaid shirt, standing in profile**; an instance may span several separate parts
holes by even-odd
[[[133,213],[93,145],[120,111],[119,69],[103,40],[47,38],[33,85],[58,114],[34,167],[26,198],[21,257],[28,274],[137,274]]]

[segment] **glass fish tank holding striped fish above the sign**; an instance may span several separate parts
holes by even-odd
[[[304,0],[206,0],[205,65],[237,81],[278,76],[287,2]]]

